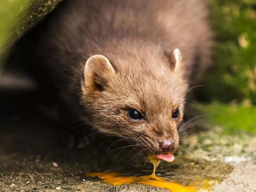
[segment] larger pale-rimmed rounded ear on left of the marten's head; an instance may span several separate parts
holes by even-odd
[[[93,55],[85,63],[83,91],[104,91],[108,79],[114,74],[115,70],[105,56]]]

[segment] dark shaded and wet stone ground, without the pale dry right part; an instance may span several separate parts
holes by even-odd
[[[54,130],[60,125],[47,120],[36,107],[40,97],[36,99],[31,92],[4,91],[0,96],[5,100],[0,110],[0,191],[168,191],[143,184],[114,186],[86,178],[87,172],[95,171],[149,175],[153,166],[137,156],[127,164],[132,153],[125,158],[124,154],[116,158],[117,153],[111,153],[101,162],[104,151],[98,150],[93,156],[98,140],[84,149],[68,149],[56,137]],[[175,157],[172,163],[161,162],[156,174],[182,185],[209,179],[211,189],[233,170],[233,166],[217,161]]]

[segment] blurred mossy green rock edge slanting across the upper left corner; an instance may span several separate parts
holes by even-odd
[[[0,54],[51,12],[60,1],[62,0],[0,0]]]

